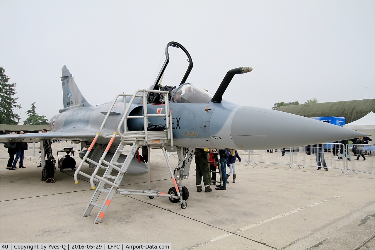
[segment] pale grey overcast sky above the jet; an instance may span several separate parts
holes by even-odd
[[[63,65],[92,105],[148,88],[170,41],[192,56],[187,82],[211,93],[228,70],[252,67],[223,96],[237,104],[365,99],[366,87],[375,98],[374,0],[0,0],[0,23],[21,123],[33,102],[47,119],[63,108]]]

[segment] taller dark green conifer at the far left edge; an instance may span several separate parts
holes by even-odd
[[[13,113],[13,109],[21,108],[16,105],[18,97],[13,97],[17,83],[8,83],[9,76],[5,74],[3,67],[0,67],[0,123],[1,124],[18,124],[20,114]]]

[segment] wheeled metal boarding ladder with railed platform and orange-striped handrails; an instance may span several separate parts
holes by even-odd
[[[142,94],[137,95],[137,93],[139,93],[139,92],[142,92]],[[164,96],[164,98],[165,98],[165,102],[164,102],[165,103],[165,108],[164,108],[165,114],[148,114],[147,113],[147,99],[146,99],[146,96],[147,96],[146,93],[147,92],[155,92],[155,93],[165,94],[165,96]],[[111,111],[112,111],[112,109],[115,105],[115,102],[116,102],[116,100],[119,96],[124,96],[124,110],[125,110],[125,112],[124,112],[124,115],[121,118],[120,123],[117,127],[117,132],[114,132],[113,135],[106,135],[106,134],[103,133],[103,128],[104,128],[104,125],[107,122],[107,119],[110,116],[110,113],[111,113]],[[130,100],[127,108],[126,108],[126,100],[125,100],[126,96],[132,96],[132,99]],[[125,125],[125,128],[124,128],[125,131],[121,133],[121,131],[120,131],[121,124],[123,124],[124,121],[125,121],[124,124],[127,124],[126,123],[127,119],[139,119],[139,118],[141,118],[141,116],[128,116],[127,115],[127,113],[129,113],[129,108],[130,108],[130,106],[131,106],[135,97],[142,97],[142,99],[143,99],[143,111],[144,111],[143,119],[144,119],[144,128],[145,129],[144,129],[144,131],[126,131],[127,128],[126,128],[126,125]],[[165,119],[166,119],[166,129],[164,131],[147,131],[147,125],[148,125],[147,117],[150,117],[150,116],[164,116]],[[181,198],[180,198],[181,195],[178,191],[177,191],[177,196],[174,196],[174,195],[165,194],[165,193],[161,193],[159,191],[153,191],[153,190],[129,190],[129,189],[119,188],[120,183],[123,180],[123,176],[126,174],[127,168],[129,167],[129,165],[130,165],[130,163],[131,163],[131,161],[132,161],[132,159],[133,159],[133,157],[134,157],[134,155],[135,155],[135,153],[138,150],[140,145],[147,145],[147,146],[155,145],[156,146],[156,145],[164,145],[166,143],[170,143],[170,145],[173,146],[172,124],[171,124],[172,122],[171,122],[171,120],[172,120],[171,119],[171,112],[169,112],[169,103],[168,103],[168,91],[141,89],[141,90],[137,90],[133,95],[127,95],[127,94],[122,93],[122,94],[119,94],[115,97],[115,99],[114,99],[114,101],[113,101],[113,103],[110,107],[110,110],[107,112],[107,115],[103,120],[103,123],[102,123],[101,128],[100,128],[100,132],[97,133],[95,139],[93,140],[92,144],[90,145],[89,149],[87,150],[86,155],[83,157],[83,160],[81,161],[81,164],[78,166],[78,168],[75,172],[75,175],[74,175],[74,179],[75,179],[76,183],[78,183],[78,179],[77,179],[78,173],[87,177],[87,178],[90,178],[90,185],[91,185],[92,189],[95,189],[94,181],[99,182],[98,186],[96,187],[96,189],[94,191],[94,194],[93,194],[89,204],[87,205],[87,208],[84,211],[82,217],[89,216],[93,207],[97,206],[97,207],[99,207],[99,212],[98,212],[98,215],[95,218],[94,224],[100,223],[102,221],[102,218],[104,217],[104,214],[107,211],[108,206],[110,205],[111,200],[113,199],[115,193],[125,194],[125,195],[144,195],[144,196],[150,197],[150,199],[152,199],[154,196],[166,196],[166,197],[169,197],[170,199],[181,200]],[[108,143],[107,148],[105,149],[105,151],[104,151],[102,157],[100,158],[99,162],[96,162],[96,161],[93,161],[90,158],[88,158],[88,155],[89,155],[90,151],[92,150],[93,146],[95,145],[95,142],[99,138],[99,136],[102,136],[104,138],[110,138],[110,142]],[[119,143],[119,145],[116,149],[116,152],[113,155],[111,161],[108,162],[108,161],[104,160],[105,156],[107,155],[112,143],[114,142],[114,140],[117,137],[120,137],[120,143]],[[127,146],[127,145],[132,145],[132,147],[129,151],[124,150],[124,147]],[[163,152],[164,152],[164,146],[160,146],[160,148],[162,148]],[[119,162],[117,162],[118,158],[120,157],[120,155],[123,152],[127,153],[127,157],[126,157],[126,159],[123,163],[119,163]],[[165,154],[165,152],[164,152],[164,154]],[[165,154],[165,157],[166,157],[166,154]],[[169,164],[169,161],[168,161],[167,157],[166,157],[166,160],[167,160],[168,167],[169,167],[169,170],[171,172],[171,175],[173,177],[173,173],[172,173],[172,170],[171,170],[171,167],[170,167],[170,164]],[[96,165],[96,167],[94,169],[94,172],[92,173],[91,176],[80,171],[80,169],[81,169],[81,167],[82,167],[82,165],[85,161],[88,161],[88,162]],[[106,166],[103,166],[103,164],[106,165]],[[98,170],[100,168],[105,169],[105,172],[104,172],[103,176],[97,175]],[[114,171],[118,172],[117,175],[115,173],[113,173]],[[175,183],[176,189],[178,190],[177,184],[176,184],[175,181],[174,181],[174,183]],[[105,185],[106,185],[106,187],[105,187]],[[98,198],[99,198],[101,193],[107,194],[103,203],[98,202]],[[183,201],[183,204],[186,207],[186,203],[184,203],[184,201]],[[181,207],[182,207],[182,205],[181,205]]]

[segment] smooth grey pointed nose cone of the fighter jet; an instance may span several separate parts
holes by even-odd
[[[366,134],[265,108],[240,107],[233,116],[231,136],[239,149],[272,149],[352,139]]]

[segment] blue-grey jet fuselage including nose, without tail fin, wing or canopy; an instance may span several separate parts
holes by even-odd
[[[192,84],[183,84],[180,88],[183,89],[186,85]],[[139,98],[138,102],[140,100]],[[110,105],[111,103],[107,103],[64,111],[52,117],[51,130],[81,130],[95,136]],[[148,113],[153,114],[164,108],[162,104],[147,105]],[[331,142],[359,135],[357,131],[314,119],[266,108],[237,105],[224,100],[220,103],[170,102],[169,111],[172,113],[174,145],[181,148],[260,150]],[[107,120],[105,134],[117,131],[123,112],[124,105],[120,100]],[[140,118],[128,120],[128,131],[144,129],[142,112],[142,104],[132,104],[129,114],[139,114]],[[148,122],[150,125],[165,126],[164,117],[149,117]],[[108,139],[99,137],[98,143],[108,143]],[[112,149],[117,145],[118,143],[114,143]]]

